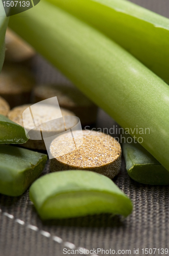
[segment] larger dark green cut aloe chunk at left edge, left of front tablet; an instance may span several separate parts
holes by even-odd
[[[0,193],[20,196],[41,174],[47,155],[0,145]]]

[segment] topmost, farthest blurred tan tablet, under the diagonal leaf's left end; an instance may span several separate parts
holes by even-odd
[[[7,49],[5,53],[6,61],[21,62],[29,60],[35,55],[33,48],[9,28],[6,32],[5,43]]]

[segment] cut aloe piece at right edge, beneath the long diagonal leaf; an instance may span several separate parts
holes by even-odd
[[[169,172],[139,143],[124,143],[123,155],[128,175],[150,185],[169,184]]]

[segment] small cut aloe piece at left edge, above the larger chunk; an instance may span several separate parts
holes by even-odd
[[[22,144],[28,139],[29,136],[21,125],[0,115],[0,144]]]

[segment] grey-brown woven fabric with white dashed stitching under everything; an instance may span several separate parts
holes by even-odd
[[[169,17],[168,0],[131,2]],[[33,59],[32,70],[39,83],[70,84],[40,56]],[[111,127],[112,124],[113,120],[99,110],[97,125]],[[47,162],[43,174],[49,171]],[[133,202],[133,212],[124,220],[120,217],[99,215],[42,222],[29,199],[28,190],[17,198],[0,195],[0,256],[61,256],[64,255],[63,248],[74,246],[104,250],[130,249],[130,255],[134,255],[133,248],[139,248],[138,255],[143,255],[142,248],[169,247],[169,187],[134,182],[126,173],[124,159],[120,174],[114,181]],[[19,223],[18,220],[24,223]],[[161,254],[156,251],[153,255]]]

